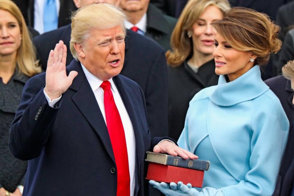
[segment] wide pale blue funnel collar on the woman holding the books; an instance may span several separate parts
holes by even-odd
[[[256,65],[232,82],[226,82],[224,75],[221,75],[217,88],[209,98],[214,104],[232,106],[252,100],[268,89],[261,79],[260,67]]]

